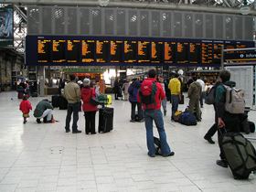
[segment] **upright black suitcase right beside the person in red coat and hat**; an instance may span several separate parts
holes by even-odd
[[[113,108],[103,107],[99,111],[99,133],[107,133],[113,128]]]

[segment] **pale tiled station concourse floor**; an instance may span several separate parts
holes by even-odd
[[[35,108],[41,99],[29,100]],[[83,133],[72,134],[64,130],[66,111],[54,110],[59,123],[37,124],[31,112],[23,124],[18,105],[16,92],[0,93],[1,192],[256,191],[256,175],[246,181],[234,180],[229,169],[215,164],[218,144],[203,139],[214,121],[212,106],[202,109],[201,123],[187,127],[170,121],[168,103],[165,131],[176,155],[151,158],[144,123],[129,122],[128,101],[113,101],[113,131],[94,135],[84,133],[82,112],[79,129]],[[185,108],[186,104],[179,106]],[[256,112],[249,116],[256,122]],[[213,139],[217,141],[217,135]]]

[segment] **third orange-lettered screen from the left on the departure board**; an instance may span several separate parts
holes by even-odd
[[[76,63],[80,61],[80,40],[68,40],[66,50],[67,62]]]

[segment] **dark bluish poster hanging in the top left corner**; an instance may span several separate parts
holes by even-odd
[[[10,47],[14,43],[14,9],[0,7],[0,47]]]

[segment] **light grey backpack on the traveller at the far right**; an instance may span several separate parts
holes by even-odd
[[[245,100],[244,91],[235,88],[230,88],[223,85],[226,89],[225,110],[232,114],[244,113]]]

